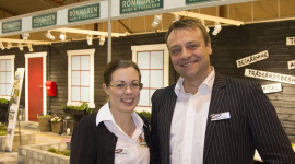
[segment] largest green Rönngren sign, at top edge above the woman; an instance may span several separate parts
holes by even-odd
[[[120,14],[162,9],[164,0],[120,0]]]

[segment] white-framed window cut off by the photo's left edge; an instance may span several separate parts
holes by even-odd
[[[0,97],[10,99],[14,77],[14,55],[0,56]]]

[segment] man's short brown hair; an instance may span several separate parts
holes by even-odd
[[[166,43],[170,33],[174,30],[180,30],[180,28],[191,28],[191,30],[199,28],[201,30],[203,34],[205,45],[208,45],[208,43],[211,43],[210,35],[208,34],[205,27],[199,21],[193,20],[193,19],[182,19],[182,20],[174,22],[166,33],[166,37],[165,37]]]

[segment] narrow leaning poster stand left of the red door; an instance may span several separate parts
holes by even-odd
[[[13,137],[16,126],[22,86],[24,79],[24,68],[17,68],[14,75],[13,87],[11,92],[11,105],[9,108],[9,125],[5,140],[5,151],[12,151]]]

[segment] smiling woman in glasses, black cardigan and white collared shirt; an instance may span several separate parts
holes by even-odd
[[[127,60],[109,62],[103,89],[109,101],[76,125],[71,164],[148,164],[149,122],[133,112],[142,89],[138,66]]]

